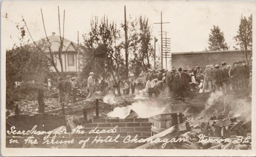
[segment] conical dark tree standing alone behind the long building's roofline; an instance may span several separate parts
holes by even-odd
[[[228,50],[227,43],[224,39],[224,33],[220,31],[219,26],[216,27],[213,25],[208,41],[208,44],[210,45],[208,48],[210,51]]]

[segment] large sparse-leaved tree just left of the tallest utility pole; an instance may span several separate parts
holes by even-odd
[[[83,39],[84,47],[90,55],[88,59],[96,61],[95,63],[98,63],[97,68],[105,75],[113,77],[118,96],[121,96],[119,84],[122,78],[120,72],[125,70],[121,68],[124,67],[124,59],[120,53],[122,46],[117,44],[120,39],[120,30],[116,28],[116,23],[109,23],[108,17],[105,16],[100,19],[100,22],[98,17],[92,18],[91,29],[89,33],[83,34]],[[85,63],[88,59],[83,62]]]

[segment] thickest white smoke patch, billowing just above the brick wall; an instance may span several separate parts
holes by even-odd
[[[165,107],[157,106],[156,102],[135,102],[129,106],[116,107],[112,112],[109,112],[108,115],[111,117],[125,118],[129,115],[130,110],[135,111],[140,118],[148,118],[154,115],[164,113]]]

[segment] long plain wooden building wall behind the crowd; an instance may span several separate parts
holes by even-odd
[[[251,50],[250,50],[251,51]],[[245,60],[245,52],[241,50],[202,51],[202,52],[181,52],[171,53],[171,66],[176,69],[181,67],[199,66],[205,69],[206,65],[221,66],[222,62],[233,66],[235,61]]]

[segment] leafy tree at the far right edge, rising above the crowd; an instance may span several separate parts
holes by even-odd
[[[242,18],[237,31],[237,35],[233,38],[236,41],[236,45],[239,45],[241,50],[245,52],[245,58],[247,64],[250,63],[252,58],[252,14],[248,17]]]

